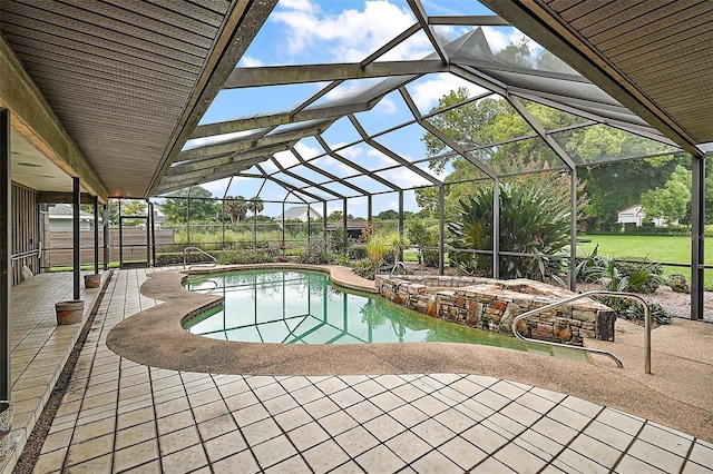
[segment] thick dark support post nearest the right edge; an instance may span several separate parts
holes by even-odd
[[[691,319],[703,319],[705,158],[691,158],[693,196],[691,199]]]

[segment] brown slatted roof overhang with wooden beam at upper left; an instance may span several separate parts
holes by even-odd
[[[150,196],[275,3],[0,2],[12,179]]]

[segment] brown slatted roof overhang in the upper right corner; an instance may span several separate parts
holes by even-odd
[[[482,0],[697,157],[713,151],[713,4]]]

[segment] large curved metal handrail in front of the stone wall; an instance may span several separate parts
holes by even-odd
[[[584,350],[584,352],[588,352],[588,353],[605,355],[607,357],[613,358],[616,362],[616,365],[618,365],[619,368],[623,368],[624,364],[622,364],[622,361],[619,361],[619,358],[617,356],[615,356],[614,354],[612,354],[608,350],[595,349],[593,347],[569,346],[567,344],[551,343],[549,340],[533,339],[533,338],[522,336],[517,330],[517,323],[520,319],[525,319],[526,317],[534,316],[534,315],[536,315],[538,313],[541,313],[541,312],[545,312],[547,309],[551,309],[551,308],[555,308],[557,306],[561,306],[564,304],[572,303],[572,302],[575,302],[577,299],[587,298],[589,296],[595,296],[595,295],[598,295],[598,296],[613,296],[615,298],[623,298],[623,299],[637,299],[642,305],[644,305],[644,372],[646,374],[651,374],[651,310],[648,309],[648,304],[646,303],[646,300],[644,298],[642,298],[641,296],[635,295],[633,293],[605,292],[605,290],[595,289],[595,290],[592,290],[592,292],[580,293],[580,294],[572,296],[569,298],[561,299],[559,302],[550,303],[549,305],[545,305],[543,307],[535,308],[535,309],[531,309],[529,312],[525,312],[521,315],[518,315],[515,319],[512,319],[512,334],[515,334],[515,337],[517,337],[518,339],[525,340],[527,343],[543,344],[543,345],[556,346],[556,347],[566,347],[568,349]]]

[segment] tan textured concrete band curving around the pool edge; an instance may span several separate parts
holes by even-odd
[[[652,391],[645,382],[627,376],[609,361],[583,365],[538,354],[458,343],[313,346],[238,343],[211,339],[183,329],[180,324],[186,317],[221,300],[221,297],[184,289],[180,283],[187,275],[255,268],[326,271],[338,285],[375,293],[375,288],[369,286],[373,286],[373,282],[336,266],[268,264],[155,271],[149,274],[140,292],[163,303],[115,326],[107,336],[107,346],[143,365],[211,374],[482,374],[567,393],[703,438],[713,438],[713,428],[706,422],[712,416],[711,409]]]

